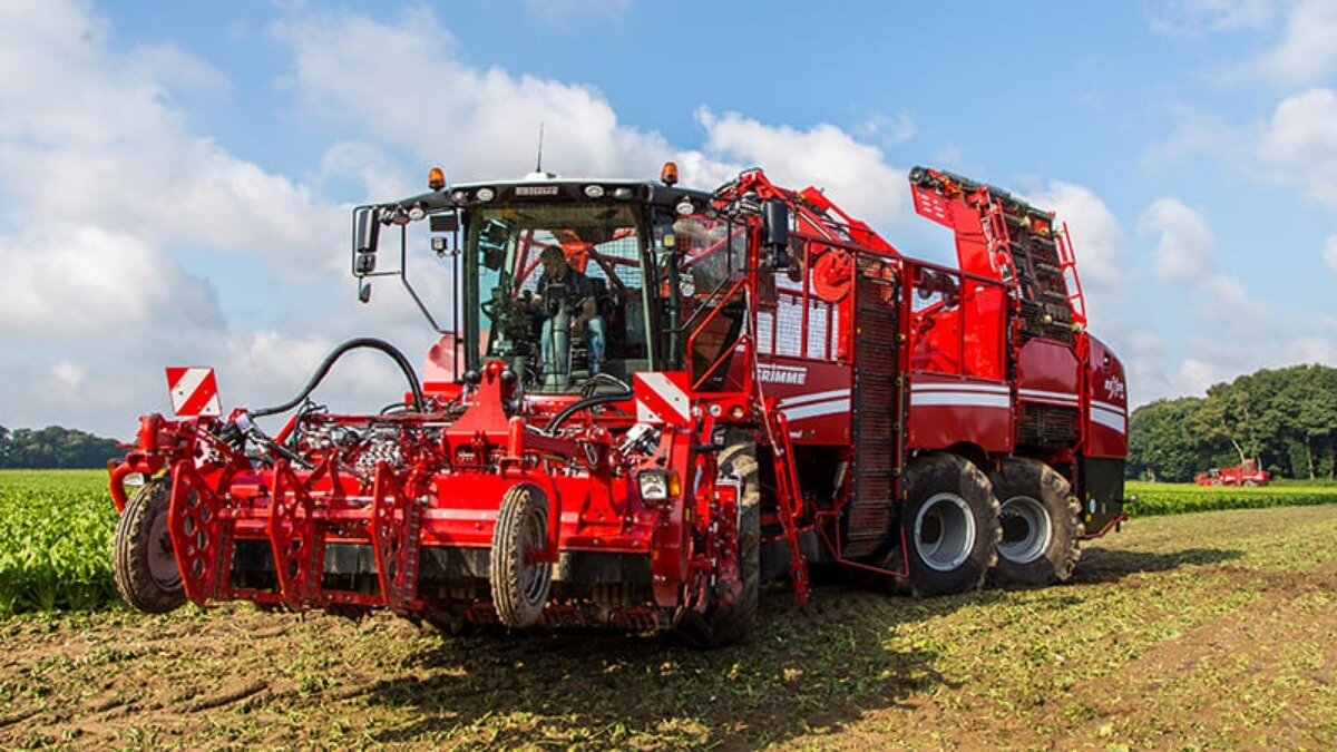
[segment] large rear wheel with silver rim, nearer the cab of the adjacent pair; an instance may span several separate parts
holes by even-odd
[[[901,527],[915,595],[980,587],[997,558],[999,503],[989,479],[964,458],[931,454],[910,464],[905,487]]]

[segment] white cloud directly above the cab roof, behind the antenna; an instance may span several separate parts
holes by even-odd
[[[293,51],[293,86],[310,114],[398,145],[420,166],[444,163],[459,179],[532,170],[540,123],[544,167],[559,174],[652,178],[674,157],[658,134],[619,123],[590,87],[461,63],[425,9],[394,24],[330,13],[273,31]],[[425,82],[443,95],[425,96]]]

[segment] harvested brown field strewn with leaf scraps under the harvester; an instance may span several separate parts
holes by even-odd
[[[246,605],[12,618],[0,747],[1337,747],[1337,506],[1134,521],[1060,587],[824,579],[713,652]]]

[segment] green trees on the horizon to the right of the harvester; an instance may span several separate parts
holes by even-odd
[[[1337,478],[1337,368],[1262,369],[1206,397],[1157,400],[1128,421],[1128,476],[1193,480],[1257,458],[1277,476]]]

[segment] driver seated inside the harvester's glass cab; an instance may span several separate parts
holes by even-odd
[[[572,269],[562,248],[548,246],[539,254],[543,262],[543,276],[539,277],[533,305],[545,318],[543,321],[543,369],[554,373],[567,371],[570,353],[555,352],[559,340],[556,328],[566,326],[571,336],[583,336],[590,349],[590,375],[594,376],[603,365],[607,335],[599,305],[595,300],[595,285],[583,272]],[[562,341],[568,341],[560,337]]]

